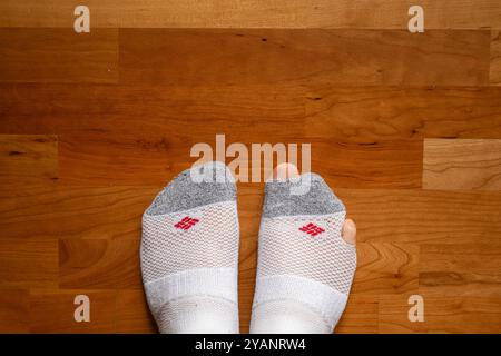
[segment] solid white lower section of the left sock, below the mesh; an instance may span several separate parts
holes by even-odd
[[[145,284],[161,333],[238,333],[237,270],[197,268]]]

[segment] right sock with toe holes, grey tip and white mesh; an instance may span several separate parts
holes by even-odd
[[[310,190],[291,195],[304,179]],[[318,175],[266,184],[250,333],[332,333],[356,268],[355,246],[341,237],[345,215]]]

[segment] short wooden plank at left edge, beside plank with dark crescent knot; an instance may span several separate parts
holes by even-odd
[[[0,238],[0,288],[55,288],[58,275],[57,240]]]

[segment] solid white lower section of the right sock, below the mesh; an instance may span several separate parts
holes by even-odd
[[[273,325],[278,333],[287,333],[284,327],[296,333],[332,333],[346,301],[345,294],[310,278],[262,277],[256,281],[250,333],[274,333]]]

